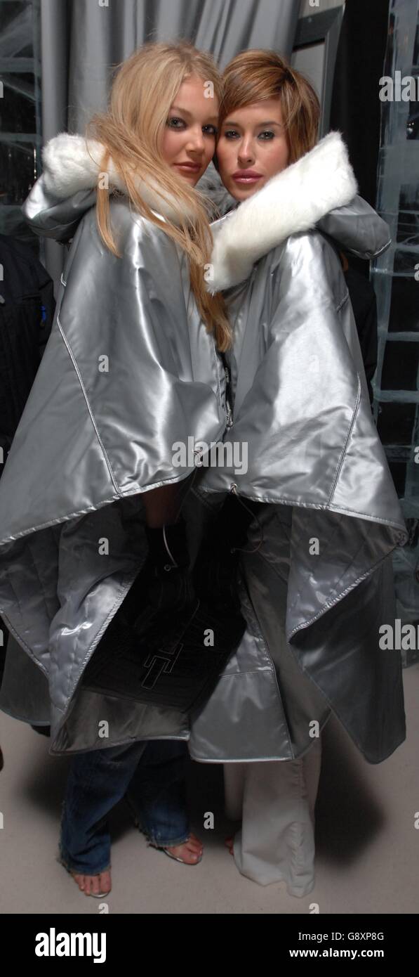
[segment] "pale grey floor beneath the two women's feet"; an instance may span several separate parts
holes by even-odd
[[[404,672],[407,740],[384,763],[368,764],[332,719],[323,740],[316,807],[316,884],[305,899],[283,884],[262,887],[236,870],[224,846],[222,769],[190,764],[193,828],[204,840],[188,867],[147,847],[124,805],[111,815],[109,913],[418,913],[419,664]],[[49,740],[0,713],[0,912],[99,913],[56,861],[66,757]],[[205,812],[215,828],[205,830]],[[0,819],[1,824],[1,819]]]

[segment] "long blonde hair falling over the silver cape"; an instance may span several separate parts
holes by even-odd
[[[204,287],[204,266],[211,261],[213,244],[208,200],[174,172],[161,149],[169,109],[182,83],[197,75],[204,82],[212,82],[221,99],[220,74],[211,55],[186,41],[145,44],[117,68],[108,108],[93,116],[86,137],[105,147],[101,170],[105,171],[110,156],[135,209],[188,255],[190,285],[200,316],[208,331],[215,333],[218,348],[225,351],[231,345],[231,330],[224,299],[221,293],[211,296]],[[169,202],[177,223],[168,218],[163,223],[152,213],[136,186],[136,177]],[[96,215],[105,245],[120,257],[110,228],[109,190],[102,181],[97,188]]]

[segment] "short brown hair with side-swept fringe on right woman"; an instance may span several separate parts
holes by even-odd
[[[219,125],[234,108],[265,99],[279,99],[289,149],[289,164],[313,149],[317,141],[320,105],[313,86],[274,51],[243,51],[223,74],[224,95]]]

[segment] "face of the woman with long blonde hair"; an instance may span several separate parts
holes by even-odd
[[[173,166],[194,187],[215,152],[218,121],[216,95],[205,98],[208,84],[191,75],[181,85],[166,122],[162,152],[166,163]]]

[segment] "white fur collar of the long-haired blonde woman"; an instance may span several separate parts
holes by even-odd
[[[61,199],[77,191],[94,189],[98,184],[98,174],[101,172],[100,162],[103,151],[102,143],[93,139],[86,140],[84,136],[71,135],[67,132],[54,136],[42,150],[46,189]],[[106,173],[109,176],[110,187],[115,187],[122,193],[127,192],[125,183],[121,180],[111,158],[107,162]],[[170,204],[173,198],[169,196],[166,202],[159,196],[157,180],[154,180],[152,185],[148,185],[138,177],[136,183],[151,210],[175,224],[179,223],[179,217]],[[183,213],[186,217],[191,217],[188,208],[185,208]]]

